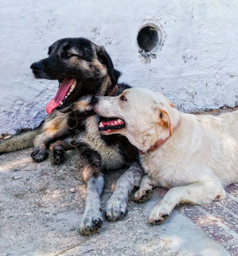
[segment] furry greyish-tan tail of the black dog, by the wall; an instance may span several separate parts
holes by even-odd
[[[9,139],[0,140],[0,154],[26,149],[33,146],[33,140],[40,134],[40,128],[13,135]]]

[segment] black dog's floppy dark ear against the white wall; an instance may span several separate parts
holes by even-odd
[[[113,63],[111,61],[109,54],[106,52],[103,46],[97,49],[97,55],[98,55],[99,62],[106,65],[108,68],[108,75],[111,78],[111,84],[116,85],[118,77],[117,78],[115,77]]]

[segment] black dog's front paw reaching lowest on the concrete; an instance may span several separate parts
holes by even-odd
[[[83,213],[79,224],[81,235],[93,235],[102,226],[102,216],[100,209],[89,209]]]

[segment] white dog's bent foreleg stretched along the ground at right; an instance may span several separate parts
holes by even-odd
[[[162,224],[168,219],[173,208],[178,203],[208,203],[225,197],[225,190],[216,181],[201,181],[187,186],[172,188],[150,213],[149,223],[153,225]]]

